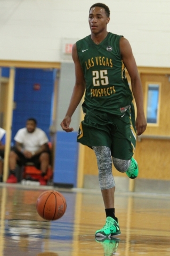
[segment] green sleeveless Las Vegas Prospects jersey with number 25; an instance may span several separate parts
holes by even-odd
[[[87,108],[122,115],[132,102],[120,54],[121,37],[109,32],[98,45],[90,35],[76,43],[86,81],[83,105]]]

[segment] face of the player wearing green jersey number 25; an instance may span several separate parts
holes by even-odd
[[[88,22],[90,25],[91,32],[93,34],[99,34],[103,30],[106,30],[109,21],[110,18],[107,17],[106,12],[103,8],[98,6],[91,8],[88,17]]]

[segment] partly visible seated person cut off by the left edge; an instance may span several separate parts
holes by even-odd
[[[6,131],[0,127],[0,182],[3,182],[3,160]]]

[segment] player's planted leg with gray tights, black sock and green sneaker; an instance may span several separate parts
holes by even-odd
[[[99,169],[99,183],[103,202],[106,211],[106,225],[100,230],[97,230],[95,236],[110,237],[120,234],[118,220],[115,217],[115,181],[112,175],[112,160],[110,148],[108,147],[93,147],[96,155]]]

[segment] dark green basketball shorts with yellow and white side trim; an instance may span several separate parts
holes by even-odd
[[[104,113],[83,106],[84,121],[80,123],[77,142],[90,148],[106,146],[112,157],[129,160],[136,146],[135,113],[133,103],[121,116]]]

